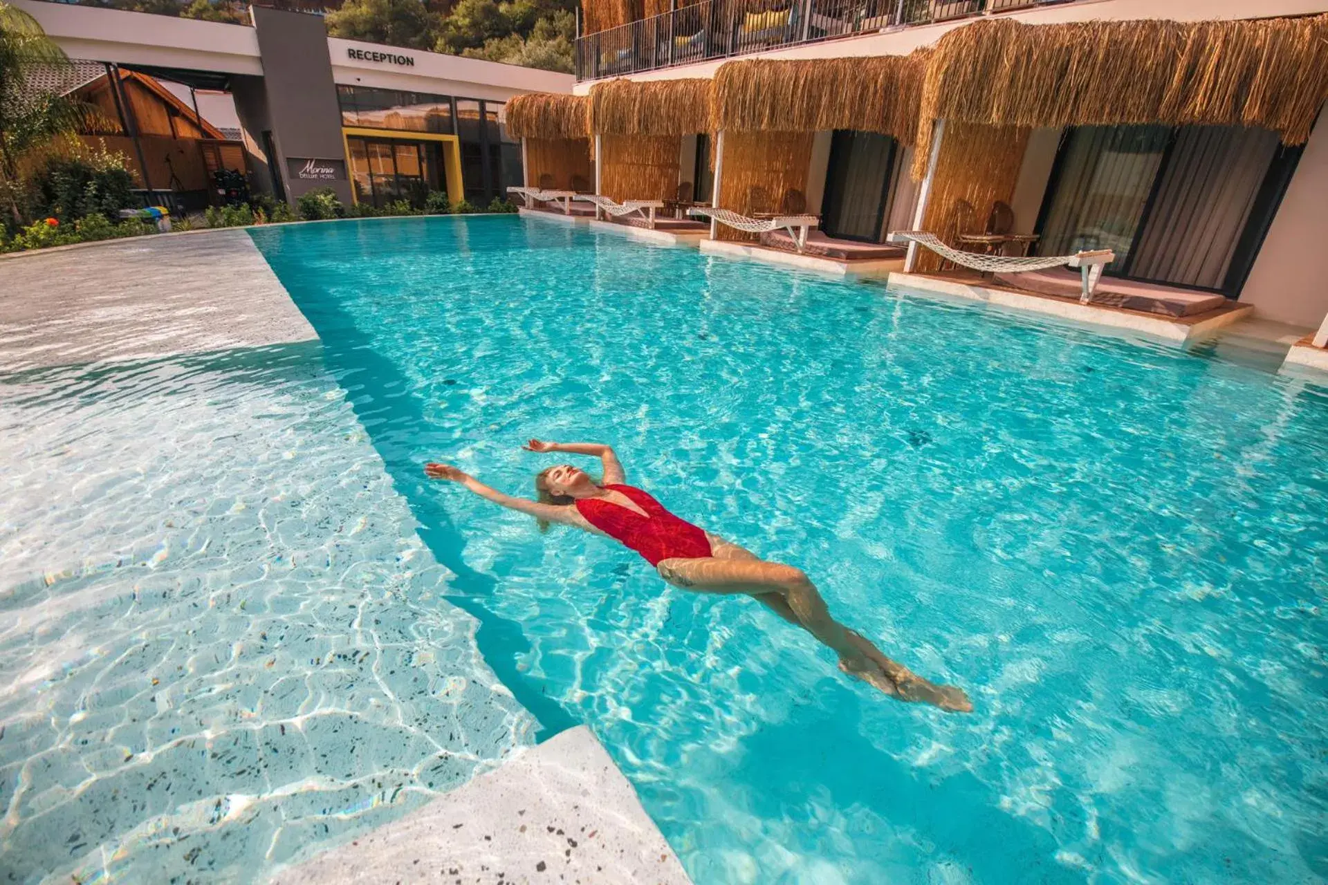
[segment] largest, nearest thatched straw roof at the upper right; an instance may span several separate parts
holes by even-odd
[[[1303,145],[1328,98],[1328,16],[1246,21],[977,21],[944,34],[923,86],[935,119],[1013,126],[1262,126]],[[915,154],[927,163],[927,151]]]

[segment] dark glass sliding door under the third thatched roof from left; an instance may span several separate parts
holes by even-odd
[[[843,240],[880,241],[896,142],[888,135],[835,130],[830,142],[821,227]]]

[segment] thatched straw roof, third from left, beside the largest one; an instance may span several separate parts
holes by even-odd
[[[912,145],[930,50],[910,56],[730,61],[714,74],[714,126],[858,129]]]

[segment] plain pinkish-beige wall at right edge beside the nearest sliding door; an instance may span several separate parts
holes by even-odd
[[[1328,107],[1240,292],[1259,316],[1317,326],[1328,314]]]

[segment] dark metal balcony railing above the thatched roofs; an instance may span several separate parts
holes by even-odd
[[[576,78],[620,77],[802,42],[1072,0],[700,0],[576,40]]]

